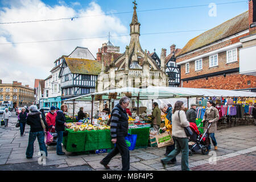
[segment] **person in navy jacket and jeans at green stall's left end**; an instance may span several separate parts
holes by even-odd
[[[65,113],[67,113],[68,107],[67,105],[63,104],[60,106],[60,110],[57,111],[57,116],[56,116],[56,123],[55,123],[55,131],[57,132],[58,135],[58,140],[57,140],[57,146],[56,146],[56,152],[57,155],[65,155],[65,152],[62,151],[61,143],[63,142],[63,132],[65,131]]]

